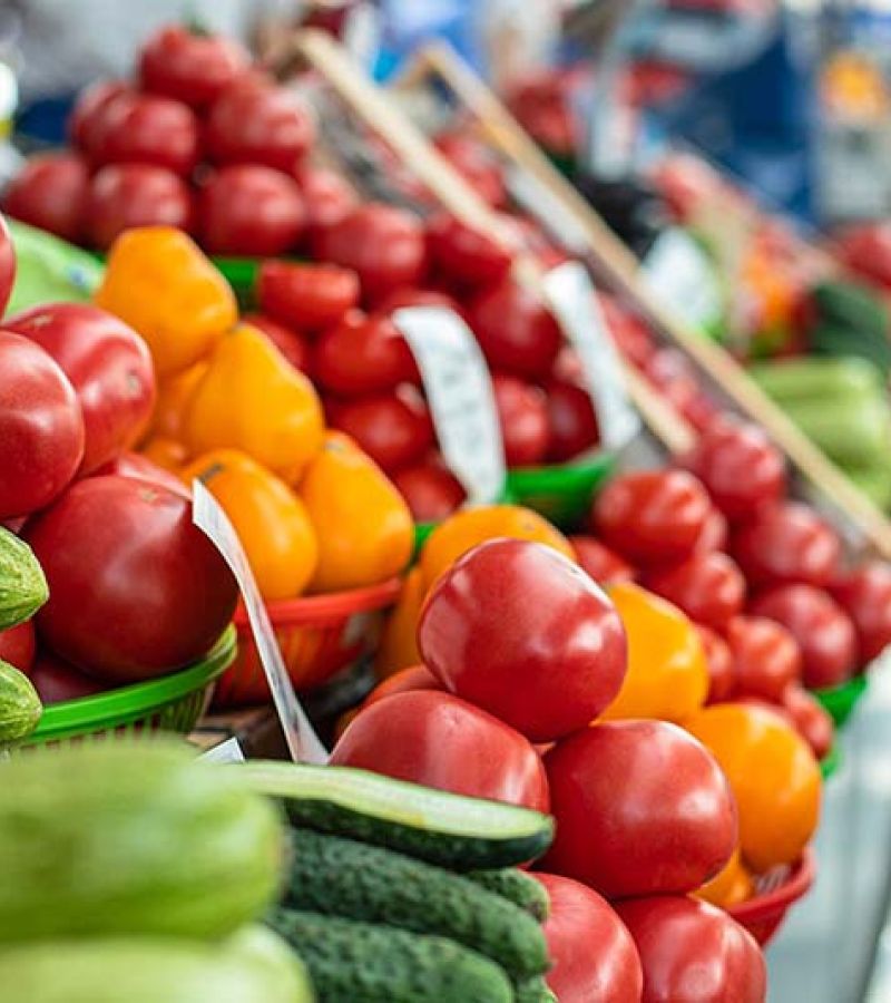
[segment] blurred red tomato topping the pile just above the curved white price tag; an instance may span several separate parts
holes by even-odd
[[[424,232],[404,210],[368,202],[325,226],[313,243],[320,261],[352,269],[368,300],[379,301],[405,285],[418,285],[427,270]]]

